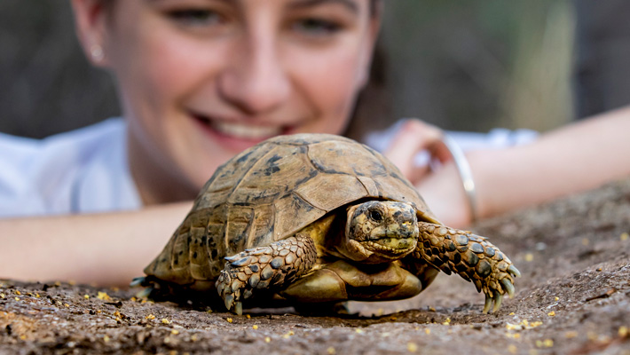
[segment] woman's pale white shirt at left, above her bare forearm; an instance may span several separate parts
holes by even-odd
[[[0,217],[140,208],[126,130],[111,118],[44,139],[0,133]]]

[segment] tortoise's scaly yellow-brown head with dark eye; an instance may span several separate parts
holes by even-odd
[[[351,260],[387,263],[411,253],[418,242],[418,218],[404,202],[367,201],[348,209],[338,251]]]

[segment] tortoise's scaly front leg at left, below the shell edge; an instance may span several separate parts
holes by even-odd
[[[251,248],[225,257],[217,291],[228,311],[242,314],[242,301],[256,289],[281,288],[309,272],[317,259],[311,237],[295,234],[267,247]]]

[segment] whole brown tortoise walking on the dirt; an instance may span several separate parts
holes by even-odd
[[[243,303],[340,304],[415,296],[439,271],[485,294],[514,294],[516,267],[484,237],[442,225],[382,154],[350,138],[270,138],[201,189],[168,244],[132,285]],[[214,294],[214,296],[212,295]],[[222,299],[219,299],[217,295]]]

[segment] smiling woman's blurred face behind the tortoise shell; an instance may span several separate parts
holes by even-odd
[[[342,133],[378,27],[369,0],[122,0],[106,17],[131,169],[192,193],[265,138]]]

